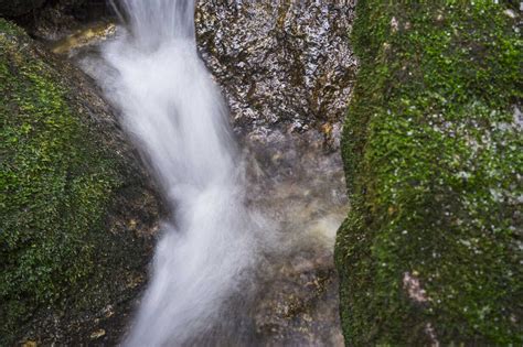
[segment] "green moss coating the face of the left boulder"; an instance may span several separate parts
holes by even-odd
[[[38,307],[60,306],[85,285],[121,178],[29,44],[0,20],[0,345]]]

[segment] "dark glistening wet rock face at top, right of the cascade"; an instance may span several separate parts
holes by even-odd
[[[237,132],[302,132],[341,121],[356,64],[346,42],[353,7],[312,0],[199,3],[199,46]]]

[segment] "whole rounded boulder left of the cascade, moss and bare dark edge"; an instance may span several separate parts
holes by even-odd
[[[146,278],[150,180],[90,80],[1,19],[0,121],[0,345],[88,340]]]

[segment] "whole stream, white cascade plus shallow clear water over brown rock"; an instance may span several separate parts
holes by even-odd
[[[293,156],[310,172],[273,181],[259,173],[199,56],[193,0],[120,4],[125,28],[83,67],[120,110],[170,212],[124,345],[339,345],[330,269],[345,209],[330,192],[342,183],[310,170],[312,150]]]

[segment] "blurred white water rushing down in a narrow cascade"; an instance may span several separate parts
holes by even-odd
[[[244,205],[222,96],[198,56],[192,0],[124,0],[129,31],[104,50],[109,95],[172,212],[127,346],[209,333],[255,261],[262,221]],[[243,289],[242,289],[243,291]]]

